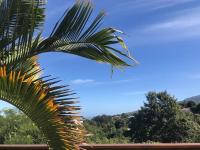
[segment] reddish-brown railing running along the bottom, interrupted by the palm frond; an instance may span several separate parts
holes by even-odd
[[[83,144],[81,150],[200,150],[200,143],[188,144]],[[48,150],[47,145],[0,145],[0,150]]]

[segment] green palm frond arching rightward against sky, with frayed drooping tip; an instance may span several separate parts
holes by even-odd
[[[77,1],[68,9],[55,25],[49,38],[43,40],[35,54],[43,52],[65,52],[82,56],[99,62],[106,62],[115,67],[129,66],[123,59],[133,59],[124,41],[114,28],[99,29],[105,13],[101,12],[88,24],[93,12],[89,1]],[[118,50],[113,44],[120,44],[124,51]]]

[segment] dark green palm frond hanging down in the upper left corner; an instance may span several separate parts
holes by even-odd
[[[28,49],[34,31],[44,22],[45,0],[3,0],[0,3],[0,58]]]

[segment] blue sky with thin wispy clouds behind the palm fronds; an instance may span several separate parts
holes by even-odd
[[[49,0],[44,36],[74,0]],[[118,114],[140,108],[148,91],[179,100],[200,94],[199,0],[93,0],[103,26],[123,30],[136,67],[115,70],[72,55],[42,54],[44,74],[63,80],[80,97],[82,115]],[[9,105],[2,103],[2,107]]]

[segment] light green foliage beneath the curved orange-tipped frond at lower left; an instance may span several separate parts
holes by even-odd
[[[36,125],[22,112],[7,109],[0,114],[0,144],[44,144]]]

